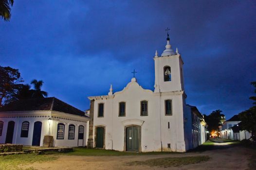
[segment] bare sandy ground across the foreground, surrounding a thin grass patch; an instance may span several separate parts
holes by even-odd
[[[181,153],[165,155],[139,155],[139,156],[67,156],[60,155],[58,160],[44,163],[33,163],[22,168],[33,167],[37,170],[246,170],[248,159],[252,151],[244,147],[217,149],[201,153]],[[211,159],[207,162],[190,164],[182,167],[149,167],[129,166],[130,161],[142,161],[162,157],[184,157],[208,155]]]

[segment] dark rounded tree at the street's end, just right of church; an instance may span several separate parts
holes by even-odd
[[[219,130],[219,126],[222,124],[222,120],[225,117],[221,112],[221,110],[215,110],[208,116],[204,115],[204,120],[208,125],[207,129],[209,131]]]

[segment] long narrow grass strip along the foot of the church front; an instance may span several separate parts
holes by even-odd
[[[129,156],[129,155],[174,154],[174,153],[173,152],[136,153],[136,152],[120,152],[120,151],[103,150],[103,149],[73,148],[73,152],[63,153],[63,154],[65,154],[65,155],[78,155],[78,156]]]

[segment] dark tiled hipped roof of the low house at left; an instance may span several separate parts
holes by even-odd
[[[11,102],[4,107],[0,108],[0,111],[36,111],[36,110],[53,110],[57,112],[64,112],[78,116],[84,116],[85,113],[72,105],[69,105],[55,97],[50,98],[36,98],[26,99],[21,101]]]

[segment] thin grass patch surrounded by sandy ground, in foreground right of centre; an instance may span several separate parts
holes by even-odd
[[[180,167],[188,164],[197,164],[202,161],[208,161],[209,156],[187,156],[187,157],[167,157],[149,159],[146,161],[129,162],[128,165],[147,165],[150,167]]]

